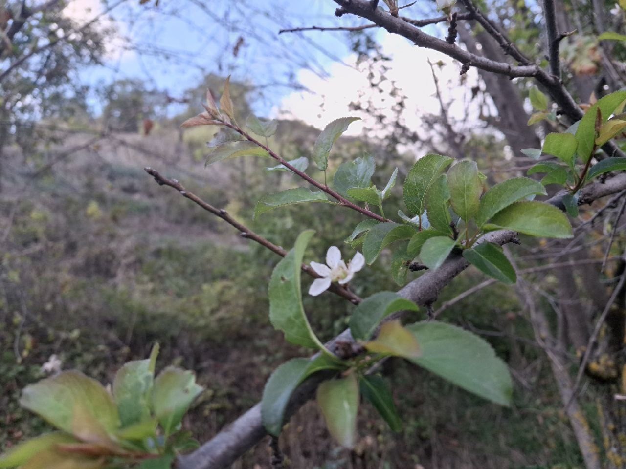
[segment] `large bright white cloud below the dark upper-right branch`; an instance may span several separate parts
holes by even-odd
[[[443,63],[441,68],[435,66],[435,71],[448,115],[458,120],[469,117],[470,122],[478,122],[478,106],[468,106],[469,89],[478,80],[475,69],[470,69],[467,76],[462,78],[459,76],[461,65],[458,62],[437,51],[418,48],[400,36],[387,35],[381,45],[382,52],[391,56],[391,61],[386,63],[389,67],[386,73],[388,80],[381,86],[395,81],[396,86],[406,94],[403,119],[409,129],[423,130],[422,116],[426,113],[439,114],[441,111],[428,59],[433,64],[439,61]],[[355,66],[356,56],[352,54],[344,61]],[[329,78],[324,79],[302,69],[298,74],[299,81],[313,93],[299,91],[285,96],[272,110],[272,114],[293,116],[317,128],[324,128],[330,121],[344,116],[361,116],[366,119],[362,113],[349,108],[351,101],[360,100],[360,94],[369,93],[366,74],[339,63],[332,64],[327,72]],[[386,103],[389,104],[389,101],[387,99]],[[376,105],[384,109],[385,103],[377,101]],[[468,111],[471,115],[465,116]],[[347,134],[357,135],[362,129],[362,124],[354,123]]]

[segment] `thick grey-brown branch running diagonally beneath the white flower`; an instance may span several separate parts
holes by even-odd
[[[355,1],[355,0],[352,0]],[[616,182],[614,182],[614,180]],[[600,186],[607,186],[606,189]],[[592,196],[603,197],[626,189],[626,174],[620,174],[608,179],[605,184],[595,183],[583,188],[579,204],[591,203]],[[556,206],[562,204],[563,196],[557,195],[549,199],[548,203]],[[583,200],[584,202],[580,201]],[[489,241],[498,245],[505,245],[516,240],[513,231],[493,231],[483,236],[481,241]],[[398,291],[398,294],[418,305],[432,305],[437,300],[439,292],[448,285],[461,271],[468,266],[468,262],[459,253],[453,253],[437,270],[428,271]],[[331,351],[337,350],[340,343],[354,343],[349,330],[329,341],[326,346]],[[314,376],[298,388],[290,400],[290,409],[285,416],[289,417],[300,406],[304,405],[315,393],[317,385],[327,376]],[[186,456],[180,456],[177,461],[178,469],[222,469],[237,460],[245,451],[249,450],[267,433],[261,423],[260,403],[248,410],[233,423],[220,431],[212,440],[200,446],[198,450]]]

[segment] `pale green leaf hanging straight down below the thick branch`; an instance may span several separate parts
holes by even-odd
[[[317,388],[317,403],[331,435],[346,448],[356,443],[359,384],[356,375],[324,381]]]

